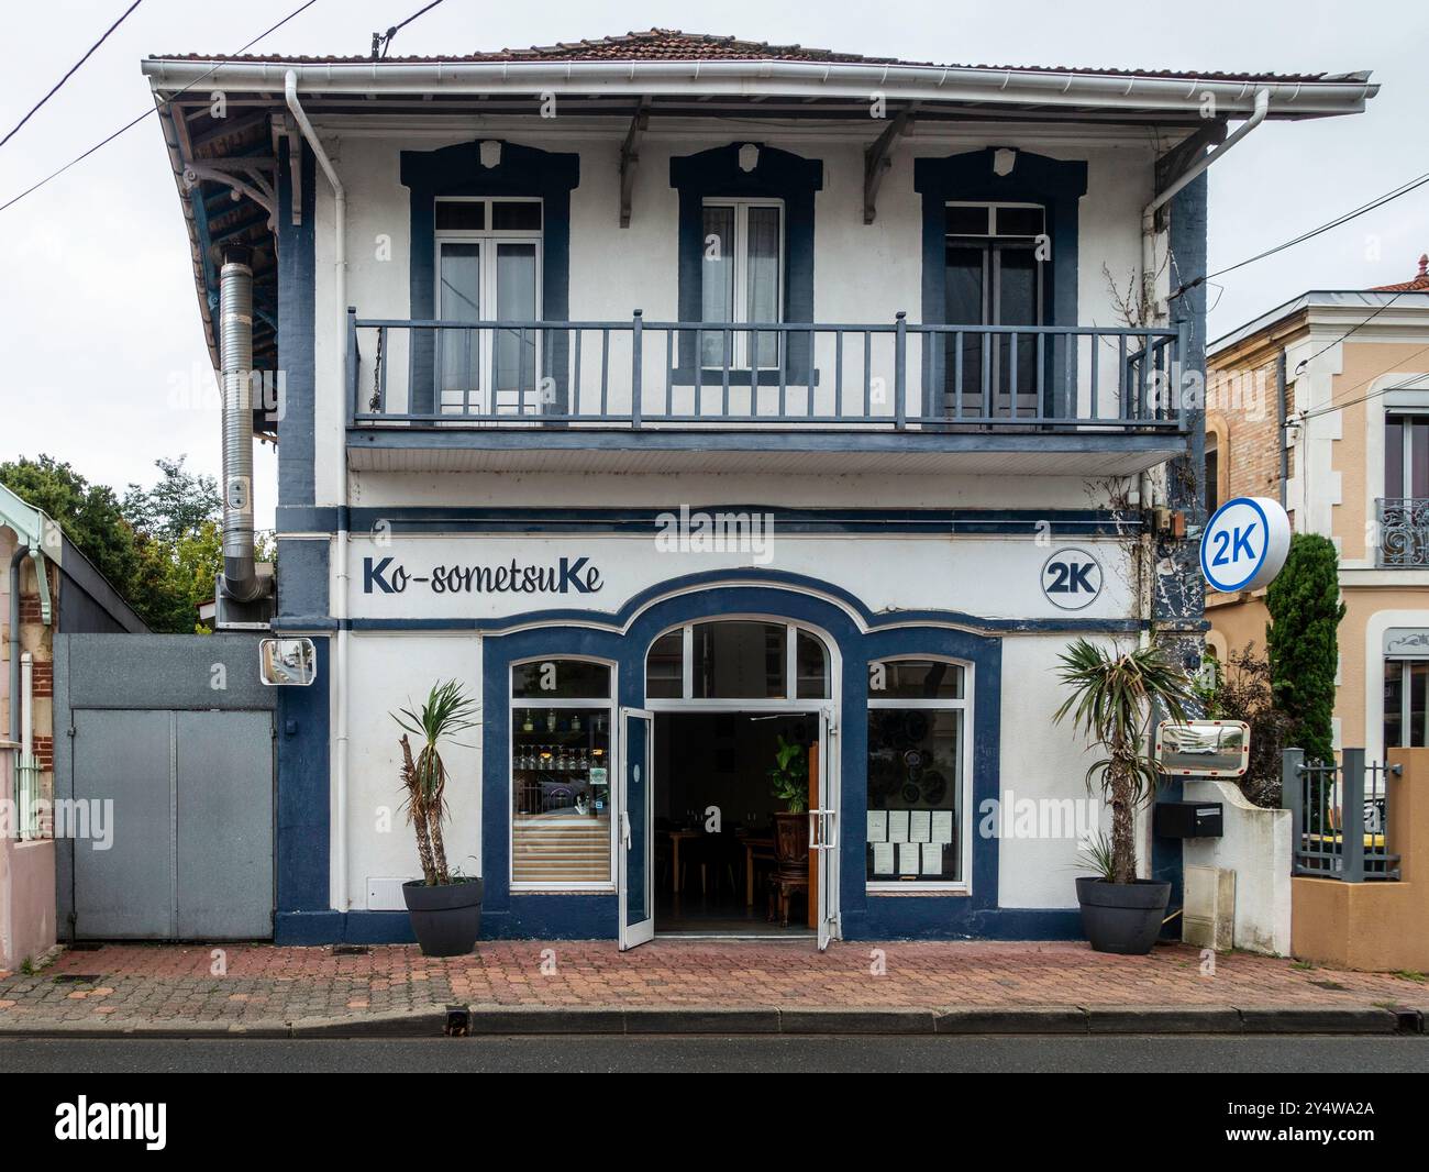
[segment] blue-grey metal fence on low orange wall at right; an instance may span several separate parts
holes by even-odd
[[[1389,775],[1400,766],[1365,762],[1363,749],[1340,750],[1339,765],[1282,756],[1282,792],[1292,813],[1293,873],[1346,883],[1399,879],[1389,853]]]

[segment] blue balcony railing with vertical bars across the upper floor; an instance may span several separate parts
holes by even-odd
[[[1179,432],[1176,329],[347,317],[357,427]]]

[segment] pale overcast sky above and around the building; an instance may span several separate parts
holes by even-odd
[[[150,53],[229,53],[299,0],[139,10],[0,147],[0,203],[151,109]],[[366,53],[372,31],[424,0],[319,0],[254,51]],[[0,123],[9,130],[127,7],[127,0],[7,6]],[[867,0],[770,4],[446,0],[393,54],[550,44],[652,26],[957,64],[1177,70],[1372,69],[1383,90],[1348,119],[1272,123],[1210,172],[1212,269],[1313,227],[1419,174],[1429,141],[1423,0]],[[3,133],[3,131],[0,131]],[[160,456],[217,473],[211,410],[174,410],[207,366],[189,244],[159,124],[117,141],[0,213],[0,459],[49,452],[89,479],[151,483]],[[1305,289],[1406,280],[1429,249],[1429,186],[1212,289],[1210,336]],[[257,517],[272,525],[276,460],[259,456]]]

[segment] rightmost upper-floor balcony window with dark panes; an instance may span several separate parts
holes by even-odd
[[[1047,213],[1037,203],[949,203],[945,212],[945,313],[950,326],[1042,326]],[[983,352],[987,352],[986,354]],[[1043,347],[1043,360],[1050,350]],[[986,363],[986,369],[985,369]],[[1037,339],[949,334],[947,396],[969,414],[1037,413]],[[985,404],[985,393],[992,399]],[[955,403],[949,402],[949,407]]]

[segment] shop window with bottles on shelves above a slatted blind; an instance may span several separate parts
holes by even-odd
[[[609,888],[612,670],[512,667],[512,886]]]

